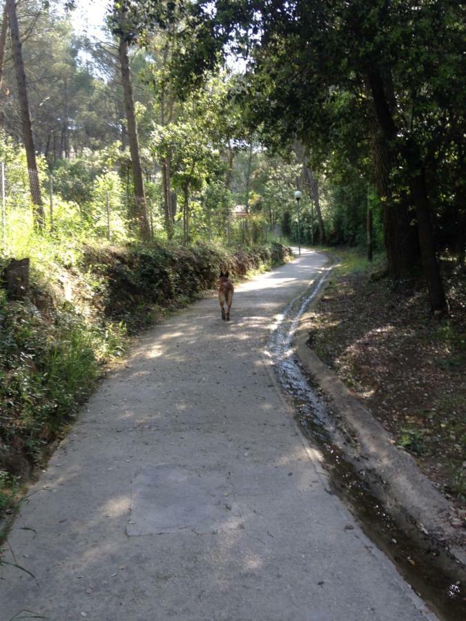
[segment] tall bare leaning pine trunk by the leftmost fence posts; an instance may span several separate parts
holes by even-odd
[[[24,71],[23,55],[21,52],[21,41],[19,39],[18,16],[14,0],[7,0],[7,6],[10,21],[10,35],[14,59],[14,70],[16,72],[16,79],[18,85],[19,107],[21,109],[23,142],[24,148],[26,149],[26,160],[28,162],[29,186],[33,208],[32,216],[34,219],[35,227],[39,230],[42,230],[45,226],[46,218],[42,204],[39,173],[37,172],[34,138],[32,137],[32,124],[29,112],[28,90],[26,88],[26,72]]]

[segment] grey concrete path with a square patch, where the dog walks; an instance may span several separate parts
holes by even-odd
[[[329,493],[264,355],[325,262],[237,286],[231,322],[204,299],[139,339],[23,504],[9,543],[35,578],[3,566],[1,621],[435,618]]]

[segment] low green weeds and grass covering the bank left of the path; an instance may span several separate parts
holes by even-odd
[[[0,319],[0,462],[18,440],[35,460],[93,388],[99,362],[121,355],[124,329],[90,324],[66,305],[43,313],[4,293]]]

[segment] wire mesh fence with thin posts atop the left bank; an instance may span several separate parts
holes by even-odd
[[[154,185],[154,184],[153,184]],[[30,170],[26,166],[0,162],[0,241],[5,253],[21,253],[30,243],[40,243],[37,231],[50,239],[65,238],[86,241],[108,239],[124,243],[137,237],[134,214],[136,198],[124,192],[116,172],[97,177],[90,190],[79,187],[74,177],[56,175],[46,170]],[[79,197],[83,197],[80,200]],[[197,206],[196,206],[197,205]],[[131,219],[133,215],[133,220]],[[163,197],[146,197],[146,215],[152,239],[164,239]],[[175,239],[183,238],[182,212],[178,210],[172,223]],[[202,199],[193,198],[190,214],[190,236],[223,239],[226,244],[257,243],[281,240],[278,224],[259,221],[252,213],[235,217],[234,210],[224,205],[217,209],[202,206]]]

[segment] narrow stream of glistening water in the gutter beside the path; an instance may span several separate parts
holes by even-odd
[[[453,562],[445,550],[420,533],[414,524],[405,520],[398,523],[382,506],[371,491],[376,481],[370,482],[368,477],[359,475],[333,440],[336,426],[327,403],[295,357],[293,340],[298,322],[324,286],[328,273],[311,282],[278,316],[267,346],[278,380],[293,404],[304,435],[322,453],[333,493],[349,506],[366,535],[396,564],[411,588],[440,619],[465,621],[465,586],[458,584]]]

